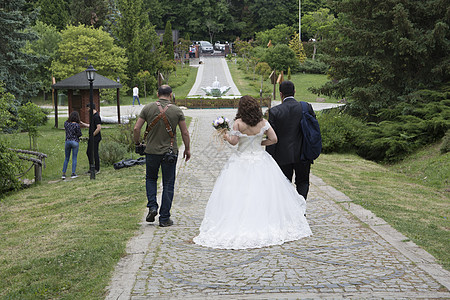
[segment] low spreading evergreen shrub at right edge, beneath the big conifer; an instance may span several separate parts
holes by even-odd
[[[443,93],[438,102],[426,98],[436,100],[437,94],[421,91],[409,102],[381,110],[378,117],[385,121],[368,124],[357,153],[374,161],[395,162],[442,139],[450,127],[450,100],[443,99]]]

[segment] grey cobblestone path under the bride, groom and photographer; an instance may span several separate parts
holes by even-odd
[[[217,114],[231,119],[235,110],[186,111],[193,117],[192,159],[178,165],[175,225],[143,224],[148,246],[132,274],[130,289],[109,298],[450,299],[448,272],[414,245],[401,251],[403,246],[391,241],[401,235],[397,237],[383,220],[315,176],[307,201],[313,236],[251,250],[214,250],[194,244],[215,179],[234,151],[211,139],[211,122]],[[377,226],[381,230],[374,230]]]

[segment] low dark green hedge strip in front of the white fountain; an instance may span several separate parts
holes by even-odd
[[[268,107],[272,103],[270,97],[257,98],[261,107]],[[222,99],[222,98],[186,98],[175,99],[177,106],[184,106],[187,108],[237,108],[239,104],[239,98],[237,99]]]

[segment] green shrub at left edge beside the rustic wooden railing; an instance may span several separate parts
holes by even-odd
[[[6,144],[0,139],[0,195],[20,188],[21,184],[16,175],[21,170],[22,166],[17,154],[8,150]]]

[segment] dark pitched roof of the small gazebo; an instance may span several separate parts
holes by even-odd
[[[115,89],[121,88],[122,85],[114,80],[106,78],[100,74],[95,74],[93,84],[94,89]],[[86,72],[80,72],[72,77],[61,80],[52,85],[55,90],[88,90],[90,88],[89,81],[86,77]]]

